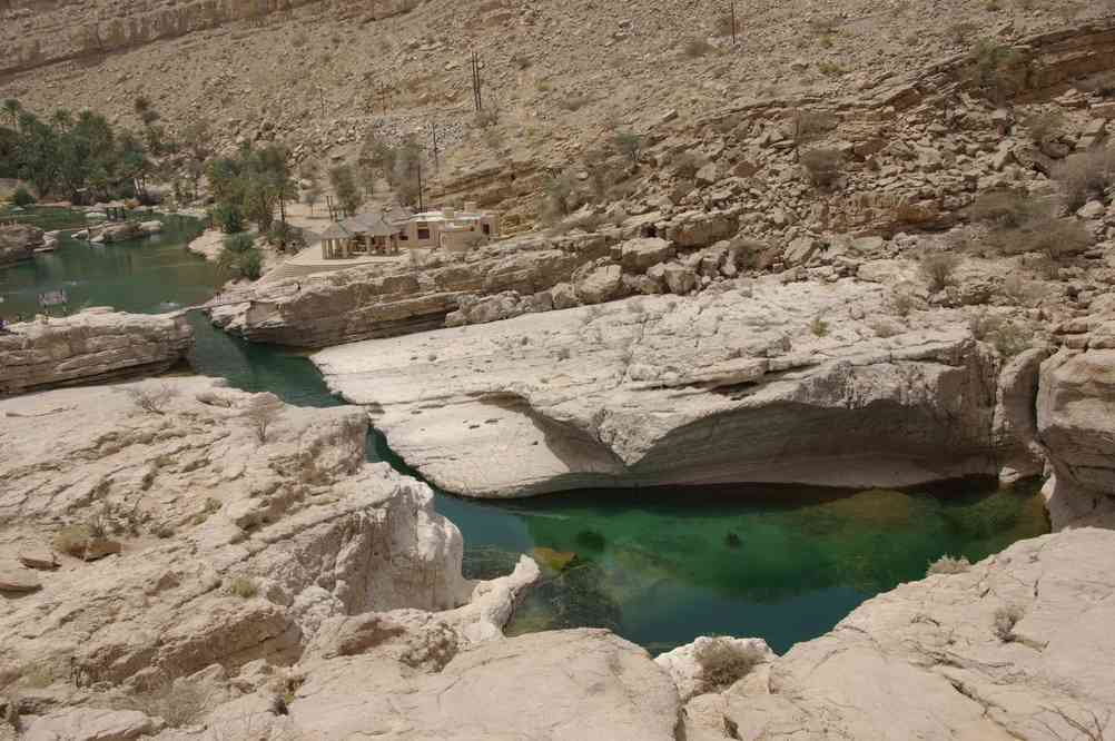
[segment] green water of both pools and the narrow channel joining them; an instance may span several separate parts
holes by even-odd
[[[0,314],[29,313],[38,292],[57,287],[75,308],[155,312],[204,301],[219,281],[184,247],[195,231],[172,220],[159,237],[136,243],[64,237],[57,252],[0,270]],[[200,314],[191,322],[197,372],[291,403],[338,403],[304,355],[242,342]],[[368,457],[407,470],[382,436],[369,437]],[[607,626],[655,652],[702,634],[762,636],[784,651],[920,578],[942,554],[975,560],[1048,530],[1036,485],[973,481],[913,491],[604,490],[501,504],[438,493],[437,506],[465,536],[469,575],[506,573],[537,547],[575,554],[563,571],[544,566],[508,632]]]

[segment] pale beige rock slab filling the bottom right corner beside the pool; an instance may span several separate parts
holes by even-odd
[[[903,584],[686,706],[689,741],[1101,739],[1115,731],[1115,533],[1016,543]]]

